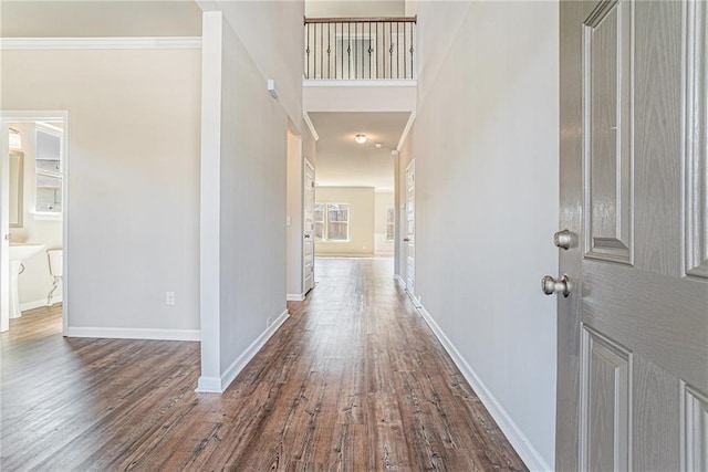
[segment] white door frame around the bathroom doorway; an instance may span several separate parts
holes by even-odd
[[[67,274],[70,270],[69,264],[69,171],[70,171],[70,153],[69,153],[69,140],[70,140],[70,122],[69,122],[69,111],[66,109],[55,109],[55,111],[0,111],[0,153],[2,158],[2,166],[0,166],[0,175],[2,178],[6,178],[6,167],[9,167],[10,159],[10,145],[8,141],[8,134],[10,133],[10,123],[11,122],[45,122],[45,120],[58,120],[61,119],[64,123],[64,132],[62,138],[62,335],[66,336],[66,332],[69,328],[69,284],[67,284]],[[7,199],[7,201],[6,201]],[[0,192],[0,200],[2,200],[2,208],[6,204],[9,204],[9,190],[4,190]],[[10,241],[6,240],[4,234],[10,233],[9,220],[4,216],[1,220],[0,233],[2,234],[1,243],[0,243],[0,298],[2,298],[2,303],[0,304],[0,318],[4,322],[9,321],[10,317],[10,306],[8,303],[9,291],[10,291],[10,264],[9,264],[9,252],[10,252]]]

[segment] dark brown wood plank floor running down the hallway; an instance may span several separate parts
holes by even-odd
[[[223,395],[199,344],[63,338],[56,308],[0,335],[14,470],[525,470],[392,280],[317,261],[317,287]]]

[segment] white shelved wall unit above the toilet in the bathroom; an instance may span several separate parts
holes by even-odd
[[[35,211],[42,213],[62,212],[62,137],[37,129],[35,148]]]

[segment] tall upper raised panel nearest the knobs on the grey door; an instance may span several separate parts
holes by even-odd
[[[585,25],[584,175],[590,258],[632,262],[632,9],[603,4]]]

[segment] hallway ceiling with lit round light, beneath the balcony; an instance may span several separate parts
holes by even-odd
[[[317,141],[316,185],[322,187],[374,187],[394,189],[392,149],[408,123],[409,113],[333,113],[309,114]],[[368,138],[357,144],[354,137]],[[383,147],[376,149],[375,144]]]

